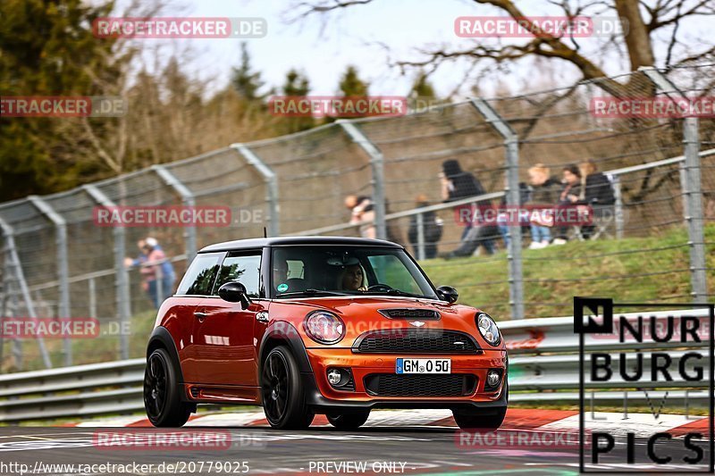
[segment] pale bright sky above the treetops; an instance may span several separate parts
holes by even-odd
[[[417,59],[422,57],[417,50],[429,46],[468,46],[477,40],[457,38],[455,19],[500,14],[493,7],[475,5],[470,0],[374,0],[373,4],[290,22],[299,12],[297,4],[296,0],[172,0],[160,16],[265,18],[265,38],[173,40],[170,49],[184,52],[185,68],[210,80],[211,88],[227,84],[231,66],[240,63],[240,42],[246,41],[253,68],[261,71],[268,86],[280,87],[286,72],[296,68],[310,79],[310,94],[332,95],[337,92],[341,74],[352,64],[370,83],[370,94],[400,96],[408,93],[417,72],[401,74],[388,65],[388,58]],[[522,0],[517,4],[529,15],[558,12],[545,0]],[[587,38],[582,43],[586,50],[593,50],[598,47],[597,41]],[[616,58],[601,57],[601,63],[610,72],[624,71]],[[457,91],[452,98],[458,99],[470,96],[473,86],[478,86],[485,96],[492,96],[567,86],[579,77],[572,66],[563,62],[552,63],[553,67],[545,64],[528,61],[509,74],[465,79],[470,68],[462,62],[443,66],[433,74],[431,82],[438,96],[452,96]]]

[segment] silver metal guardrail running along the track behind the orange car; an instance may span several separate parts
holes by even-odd
[[[620,315],[631,320],[639,314],[644,313]],[[654,316],[657,329],[660,329],[658,335],[665,330],[665,320],[669,315],[674,316],[676,322],[684,316],[697,317],[701,319],[703,335],[709,335],[707,309],[647,315]],[[573,317],[500,322],[501,332],[509,347],[510,402],[578,402],[578,338],[573,325]],[[589,351],[608,352],[613,362],[618,362],[619,354],[625,354],[627,368],[632,370],[635,355],[629,354],[629,351],[644,345],[623,340],[621,342],[617,335],[589,335],[585,338],[585,345]],[[702,346],[707,346],[708,342],[706,338]],[[673,363],[679,363],[685,354],[683,350],[676,350],[677,343],[659,347],[669,349]],[[139,358],[0,375],[0,422],[143,411],[141,388],[144,366],[144,359]],[[708,375],[709,367],[704,367],[703,375]],[[650,364],[644,365],[644,372],[650,372],[650,369]],[[614,391],[616,389],[619,391]],[[592,390],[598,391],[599,401],[613,400],[614,405],[620,405],[625,391],[629,392],[630,404],[647,404],[650,398],[656,402],[655,405],[659,405],[666,389],[669,406],[704,405],[709,402],[707,378],[686,381],[676,374],[668,384],[650,381],[633,383],[618,378],[588,385],[589,394]],[[645,395],[641,390],[648,390],[649,394]]]

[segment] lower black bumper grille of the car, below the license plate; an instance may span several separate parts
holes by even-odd
[[[374,397],[465,397],[476,388],[475,375],[371,373],[363,380]]]

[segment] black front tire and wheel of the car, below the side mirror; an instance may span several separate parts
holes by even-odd
[[[295,357],[288,347],[273,348],[261,367],[261,398],[265,419],[277,430],[305,430],[315,418]]]

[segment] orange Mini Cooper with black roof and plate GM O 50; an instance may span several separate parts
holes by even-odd
[[[457,296],[387,241],[206,246],[156,317],[148,418],[178,427],[198,404],[263,405],[274,428],[324,413],[356,429],[372,408],[449,408],[459,427],[498,428],[507,351],[492,318]]]

